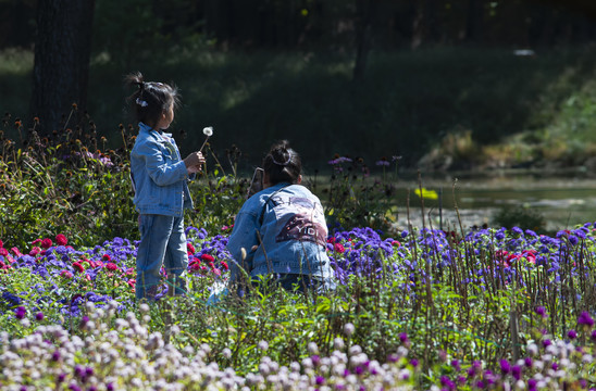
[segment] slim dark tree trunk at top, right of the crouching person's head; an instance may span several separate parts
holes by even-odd
[[[356,64],[352,79],[364,78],[367,60],[372,47],[372,20],[376,11],[377,0],[356,0]]]

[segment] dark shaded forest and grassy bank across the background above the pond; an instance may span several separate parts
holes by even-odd
[[[184,152],[213,126],[247,165],[287,138],[312,168],[592,167],[595,42],[580,0],[0,0],[0,110],[114,147],[140,71],[181,88]]]

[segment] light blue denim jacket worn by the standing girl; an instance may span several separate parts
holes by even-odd
[[[139,123],[139,134],[131,152],[134,203],[141,214],[182,217],[193,207],[188,175],[171,134]]]

